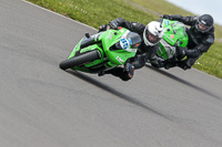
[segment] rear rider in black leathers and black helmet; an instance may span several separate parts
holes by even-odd
[[[210,46],[214,43],[213,18],[210,14],[202,14],[200,17],[163,14],[163,19],[176,20],[190,25],[190,29],[186,29],[189,35],[188,46],[179,49],[179,53],[186,55],[186,60],[180,62],[165,62],[164,67],[170,69],[178,65],[183,70],[191,69],[195,61],[204,52],[208,52]]]

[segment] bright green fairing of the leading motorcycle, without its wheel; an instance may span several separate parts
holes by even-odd
[[[94,61],[87,62],[81,65],[77,65],[71,67],[72,70],[88,72],[88,73],[98,73],[100,69],[112,69],[118,65],[123,65],[128,59],[133,57],[137,53],[137,50],[132,49],[132,46],[128,43],[127,50],[133,50],[134,52],[129,52],[124,49],[115,49],[111,50],[115,43],[120,42],[121,39],[127,38],[129,34],[129,30],[122,28],[121,30],[108,30],[94,35],[91,35],[90,39],[94,38],[94,42],[87,45],[85,48],[81,49],[81,44],[84,44],[88,38],[83,38],[80,42],[75,45],[72,50],[71,54],[69,55],[68,60],[84,54],[87,52],[99,50],[100,57]],[[99,38],[98,38],[99,36]],[[138,35],[139,36],[139,35]],[[129,41],[129,40],[128,40]],[[139,42],[140,43],[140,42]],[[93,69],[93,70],[92,70]]]

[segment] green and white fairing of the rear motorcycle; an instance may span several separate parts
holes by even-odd
[[[168,60],[175,54],[175,45],[185,48],[189,39],[183,23],[163,19],[162,25],[164,29],[164,35],[160,41],[158,55]]]

